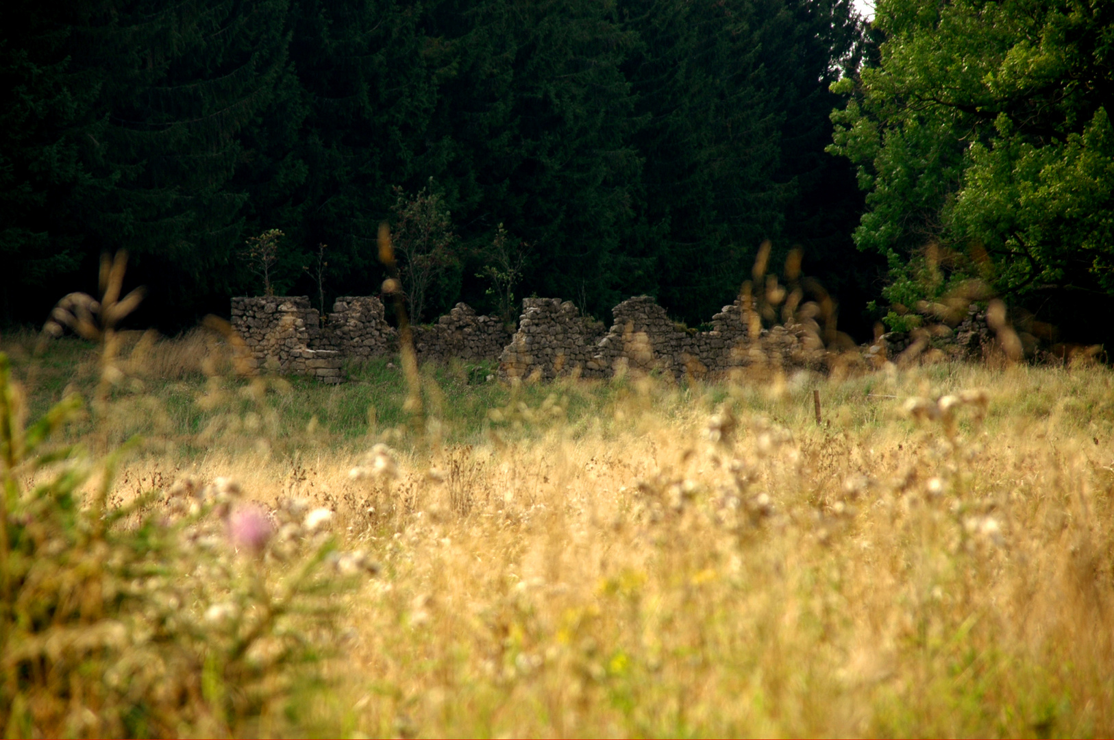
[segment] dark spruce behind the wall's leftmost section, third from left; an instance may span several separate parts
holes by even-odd
[[[422,18],[420,4],[394,0],[293,6],[305,178],[295,191],[299,223],[289,233],[297,244],[329,244],[335,293],[378,291],[375,240],[390,217],[392,187],[417,189],[441,172],[427,136],[440,52],[422,33]]]

